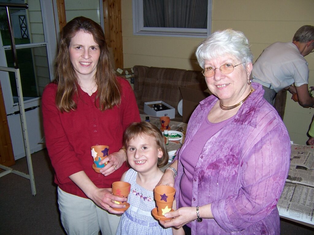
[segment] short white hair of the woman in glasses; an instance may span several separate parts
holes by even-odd
[[[249,41],[241,31],[232,29],[218,30],[204,39],[198,46],[195,56],[198,64],[204,68],[205,60],[212,60],[220,56],[234,56],[243,63],[253,61]]]

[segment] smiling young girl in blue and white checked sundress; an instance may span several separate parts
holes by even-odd
[[[116,234],[168,235],[183,232],[182,228],[162,227],[151,213],[156,207],[153,191],[163,175],[159,167],[166,165],[169,159],[160,130],[149,122],[133,123],[124,132],[123,143],[128,164],[132,167],[121,179],[131,184],[127,200],[130,207],[122,215]],[[173,209],[176,209],[175,204]]]

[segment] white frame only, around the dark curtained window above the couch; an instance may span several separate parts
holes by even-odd
[[[206,38],[211,33],[212,0],[208,0],[207,7],[207,29],[144,27],[143,0],[133,0],[133,34],[142,36]]]

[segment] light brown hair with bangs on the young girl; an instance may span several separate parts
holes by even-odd
[[[157,166],[163,167],[168,163],[169,155],[166,149],[164,137],[155,125],[142,121],[140,123],[131,123],[123,134],[123,146],[127,146],[127,142],[138,136],[149,135],[155,138],[157,148],[162,152],[162,157],[158,158]]]

